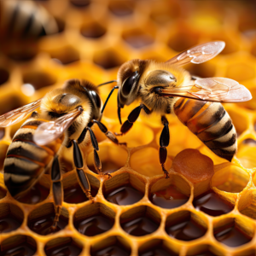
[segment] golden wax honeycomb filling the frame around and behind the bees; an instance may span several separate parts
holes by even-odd
[[[251,90],[253,100],[224,104],[238,135],[238,152],[232,163],[218,158],[175,116],[168,116],[171,142],[167,148],[166,167],[171,168],[169,179],[164,178],[158,159],[162,130],[159,116],[142,114],[131,131],[119,137],[119,141],[128,143],[128,148],[113,145],[95,127],[103,171],[115,172],[111,179],[96,175],[92,167],[90,143],[83,148],[84,172],[90,179],[92,194],[96,195],[94,203],[91,203],[77,187],[72,151],[63,153],[65,201],[60,230],[55,233],[49,234],[49,229],[44,229],[43,221],[54,216],[49,174],[44,174],[26,196],[16,201],[4,187],[3,172],[0,172],[0,231],[6,228],[6,218],[13,225],[8,232],[0,234],[0,254],[157,255],[145,252],[159,247],[166,250],[166,254],[159,255],[255,255],[255,2],[46,0],[37,3],[55,16],[60,32],[41,38],[21,57],[1,49],[0,114],[37,100],[49,90],[60,87],[67,79],[88,79],[100,84],[115,79],[119,66],[130,59],[166,61],[195,44],[217,39],[226,43],[220,55],[212,61],[186,68],[201,77],[235,79]],[[27,84],[32,84],[32,87]],[[101,87],[103,102],[112,86]],[[118,132],[116,96],[117,91],[113,93],[102,122],[110,131]],[[137,105],[138,102],[123,109],[123,121]],[[1,170],[11,138],[20,125],[0,130]],[[188,154],[188,151],[183,151],[186,148],[194,150],[190,149],[192,151]],[[202,154],[213,161],[214,166],[208,172],[204,168],[208,166],[209,159]],[[175,168],[178,164],[182,166],[178,169],[180,172]],[[190,169],[200,172],[201,166],[202,176],[195,179],[189,176]],[[125,184],[137,189],[136,195],[131,196],[134,199],[132,203],[119,206],[106,200],[113,189]],[[230,210],[215,217],[196,210],[193,204],[195,197],[207,193],[209,189],[225,201]],[[158,207],[152,203],[153,195],[157,193],[170,193],[169,196],[177,193],[183,203],[170,209]],[[213,204],[214,207],[218,205]],[[79,233],[79,224],[96,214],[104,219],[103,229],[106,231],[94,234],[96,236]],[[123,230],[127,222],[142,217],[152,224],[148,235],[131,236]],[[43,224],[35,225],[38,219]],[[168,230],[183,219],[190,219],[200,230],[198,239],[184,241],[178,236],[168,236]],[[96,227],[96,223],[93,225]],[[225,226],[236,226],[242,234],[242,238],[236,238],[232,246],[218,240],[218,230]],[[38,234],[40,229],[44,230],[42,235]],[[193,236],[195,230],[192,231]],[[240,245],[238,241],[243,242]],[[22,248],[19,251],[21,244],[26,244],[26,251]],[[114,245],[123,252],[99,253]],[[13,248],[18,248],[20,254],[5,254]]]

